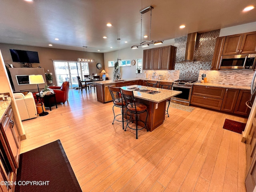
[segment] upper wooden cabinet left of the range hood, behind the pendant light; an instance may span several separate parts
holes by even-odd
[[[173,70],[176,47],[164,46],[143,51],[143,70]]]

